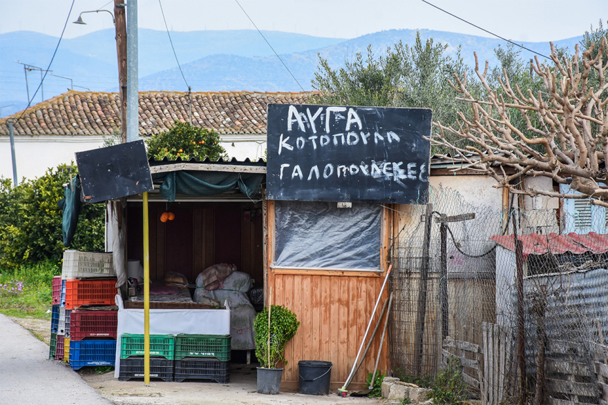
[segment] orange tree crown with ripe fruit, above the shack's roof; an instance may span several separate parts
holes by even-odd
[[[175,121],[168,132],[152,135],[146,141],[146,145],[148,146],[148,157],[154,157],[157,160],[164,157],[169,160],[175,160],[178,157],[182,160],[188,160],[191,157],[198,160],[204,160],[206,157],[211,160],[226,157],[226,150],[220,145],[218,132],[180,121]]]

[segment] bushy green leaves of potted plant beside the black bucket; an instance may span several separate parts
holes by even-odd
[[[270,311],[270,332],[268,330],[268,307],[256,316],[256,357],[262,367],[276,368],[280,362],[287,364],[285,345],[296,335],[300,322],[296,314],[280,305],[273,305]],[[268,336],[270,335],[270,358],[268,357]]]

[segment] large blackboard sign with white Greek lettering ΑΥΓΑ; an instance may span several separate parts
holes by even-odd
[[[424,204],[431,110],[269,104],[268,199]]]

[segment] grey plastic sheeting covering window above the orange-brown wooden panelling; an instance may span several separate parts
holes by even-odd
[[[380,269],[381,206],[276,201],[275,266]]]

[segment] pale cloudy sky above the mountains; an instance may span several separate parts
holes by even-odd
[[[551,41],[582,35],[608,17],[607,0],[428,0],[462,19],[516,41]],[[59,37],[71,0],[0,0],[0,33],[18,30]],[[421,0],[238,0],[260,30],[316,37],[355,38],[390,29],[428,29],[490,37]],[[170,30],[254,29],[236,0],[162,0]],[[113,1],[75,0],[82,11],[113,10]],[[164,30],[158,0],[138,1],[140,28]],[[111,28],[109,14],[84,14],[86,26],[68,23],[65,38]]]

